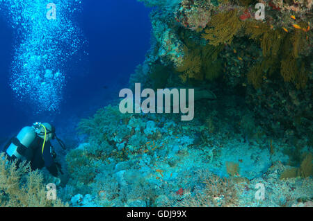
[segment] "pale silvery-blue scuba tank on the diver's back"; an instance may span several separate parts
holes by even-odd
[[[12,143],[9,145],[6,153],[10,157],[17,157],[17,159],[24,160],[25,157],[22,152],[25,152],[27,148],[31,145],[36,137],[36,132],[34,127],[24,127],[16,138],[13,138]]]

